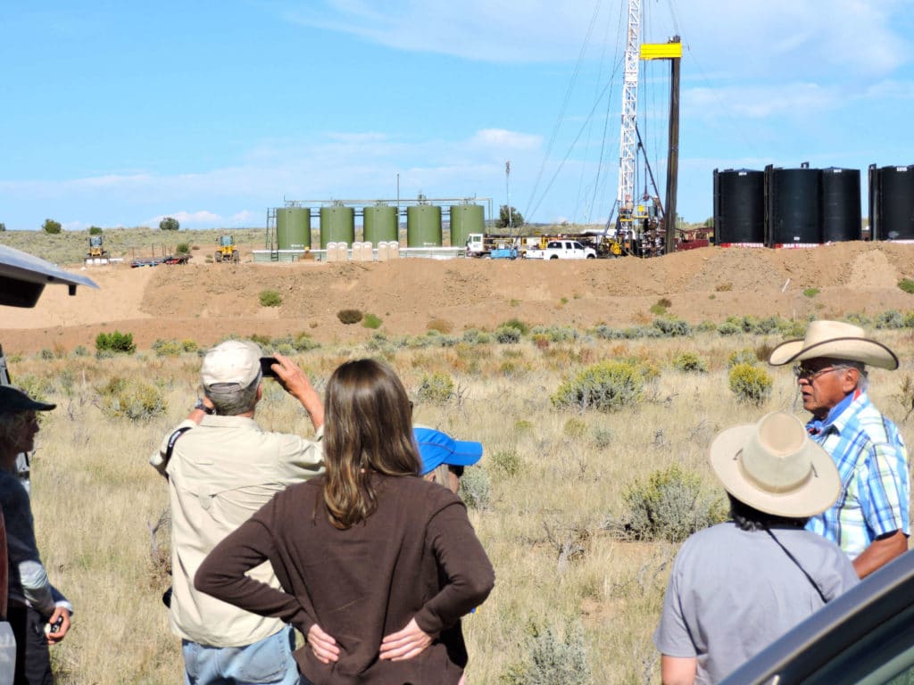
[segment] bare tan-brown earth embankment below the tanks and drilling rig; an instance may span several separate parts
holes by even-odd
[[[5,353],[60,345],[93,349],[100,331],[132,332],[138,346],[157,338],[201,345],[228,333],[276,337],[308,332],[319,342],[368,337],[336,318],[359,309],[383,320],[390,335],[425,332],[443,320],[454,332],[493,329],[516,317],[530,324],[588,327],[651,321],[660,298],[670,315],[693,323],[730,314],[843,316],[914,309],[898,280],[914,277],[914,246],[842,243],[813,249],[703,248],[655,259],[572,261],[432,260],[385,263],[188,264],[81,271],[100,286],[75,297],[49,286],[35,309],[3,308]],[[74,269],[81,269],[74,267]],[[816,288],[813,297],[803,290]],[[282,306],[262,307],[261,290]]]

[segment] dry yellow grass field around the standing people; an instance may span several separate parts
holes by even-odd
[[[911,359],[906,332],[880,340]],[[734,350],[777,342],[762,337],[700,335],[656,341],[458,345],[388,353],[415,396],[425,374],[451,374],[455,396],[443,406],[418,403],[416,421],[481,440],[491,503],[472,511],[473,524],[497,574],[493,595],[464,621],[474,683],[498,683],[526,658],[527,627],[557,629],[579,620],[594,683],[658,680],[651,642],[675,545],[624,543],[601,528],[619,515],[632,480],[673,463],[699,473],[708,492],[717,485],[706,464],[707,445],[722,427],[785,408],[802,415],[792,375],[774,370],[771,399],[760,409],[739,406],[728,391],[726,360]],[[707,361],[707,374],[670,367],[676,353]],[[346,347],[305,353],[299,362],[323,387],[336,364],[369,354]],[[656,364],[657,379],[637,408],[617,413],[558,412],[550,403],[565,374],[605,358],[636,356]],[[510,373],[504,364],[511,363]],[[59,408],[46,420],[34,462],[34,508],[39,547],[52,581],[77,608],[68,639],[52,652],[61,683],[174,683],[181,678],[178,640],[167,627],[160,595],[167,585],[151,553],[150,526],[165,509],[165,484],[148,455],[197,397],[196,354],[97,361],[72,357],[11,364]],[[874,371],[877,405],[900,421],[909,401],[897,374]],[[115,375],[158,385],[166,416],[149,423],[101,414],[96,388]],[[907,397],[907,400],[904,398]],[[261,425],[307,431],[303,412],[268,382]],[[902,432],[910,440],[908,423]],[[515,467],[495,468],[498,455]],[[505,461],[508,463],[508,461]],[[111,646],[117,645],[116,650]]]

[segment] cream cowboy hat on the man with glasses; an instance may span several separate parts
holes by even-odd
[[[844,321],[813,321],[802,340],[781,342],[771,351],[772,366],[815,357],[845,359],[894,371],[898,357],[881,342],[866,337],[859,326]]]

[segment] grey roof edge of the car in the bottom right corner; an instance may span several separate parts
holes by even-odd
[[[801,682],[848,646],[914,604],[914,551],[836,597],[719,685]],[[774,680],[776,679],[776,680]]]

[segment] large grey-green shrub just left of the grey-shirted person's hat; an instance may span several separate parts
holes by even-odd
[[[610,527],[632,540],[681,543],[727,517],[724,502],[703,495],[701,478],[678,464],[634,480],[623,492],[622,502],[622,519]]]

